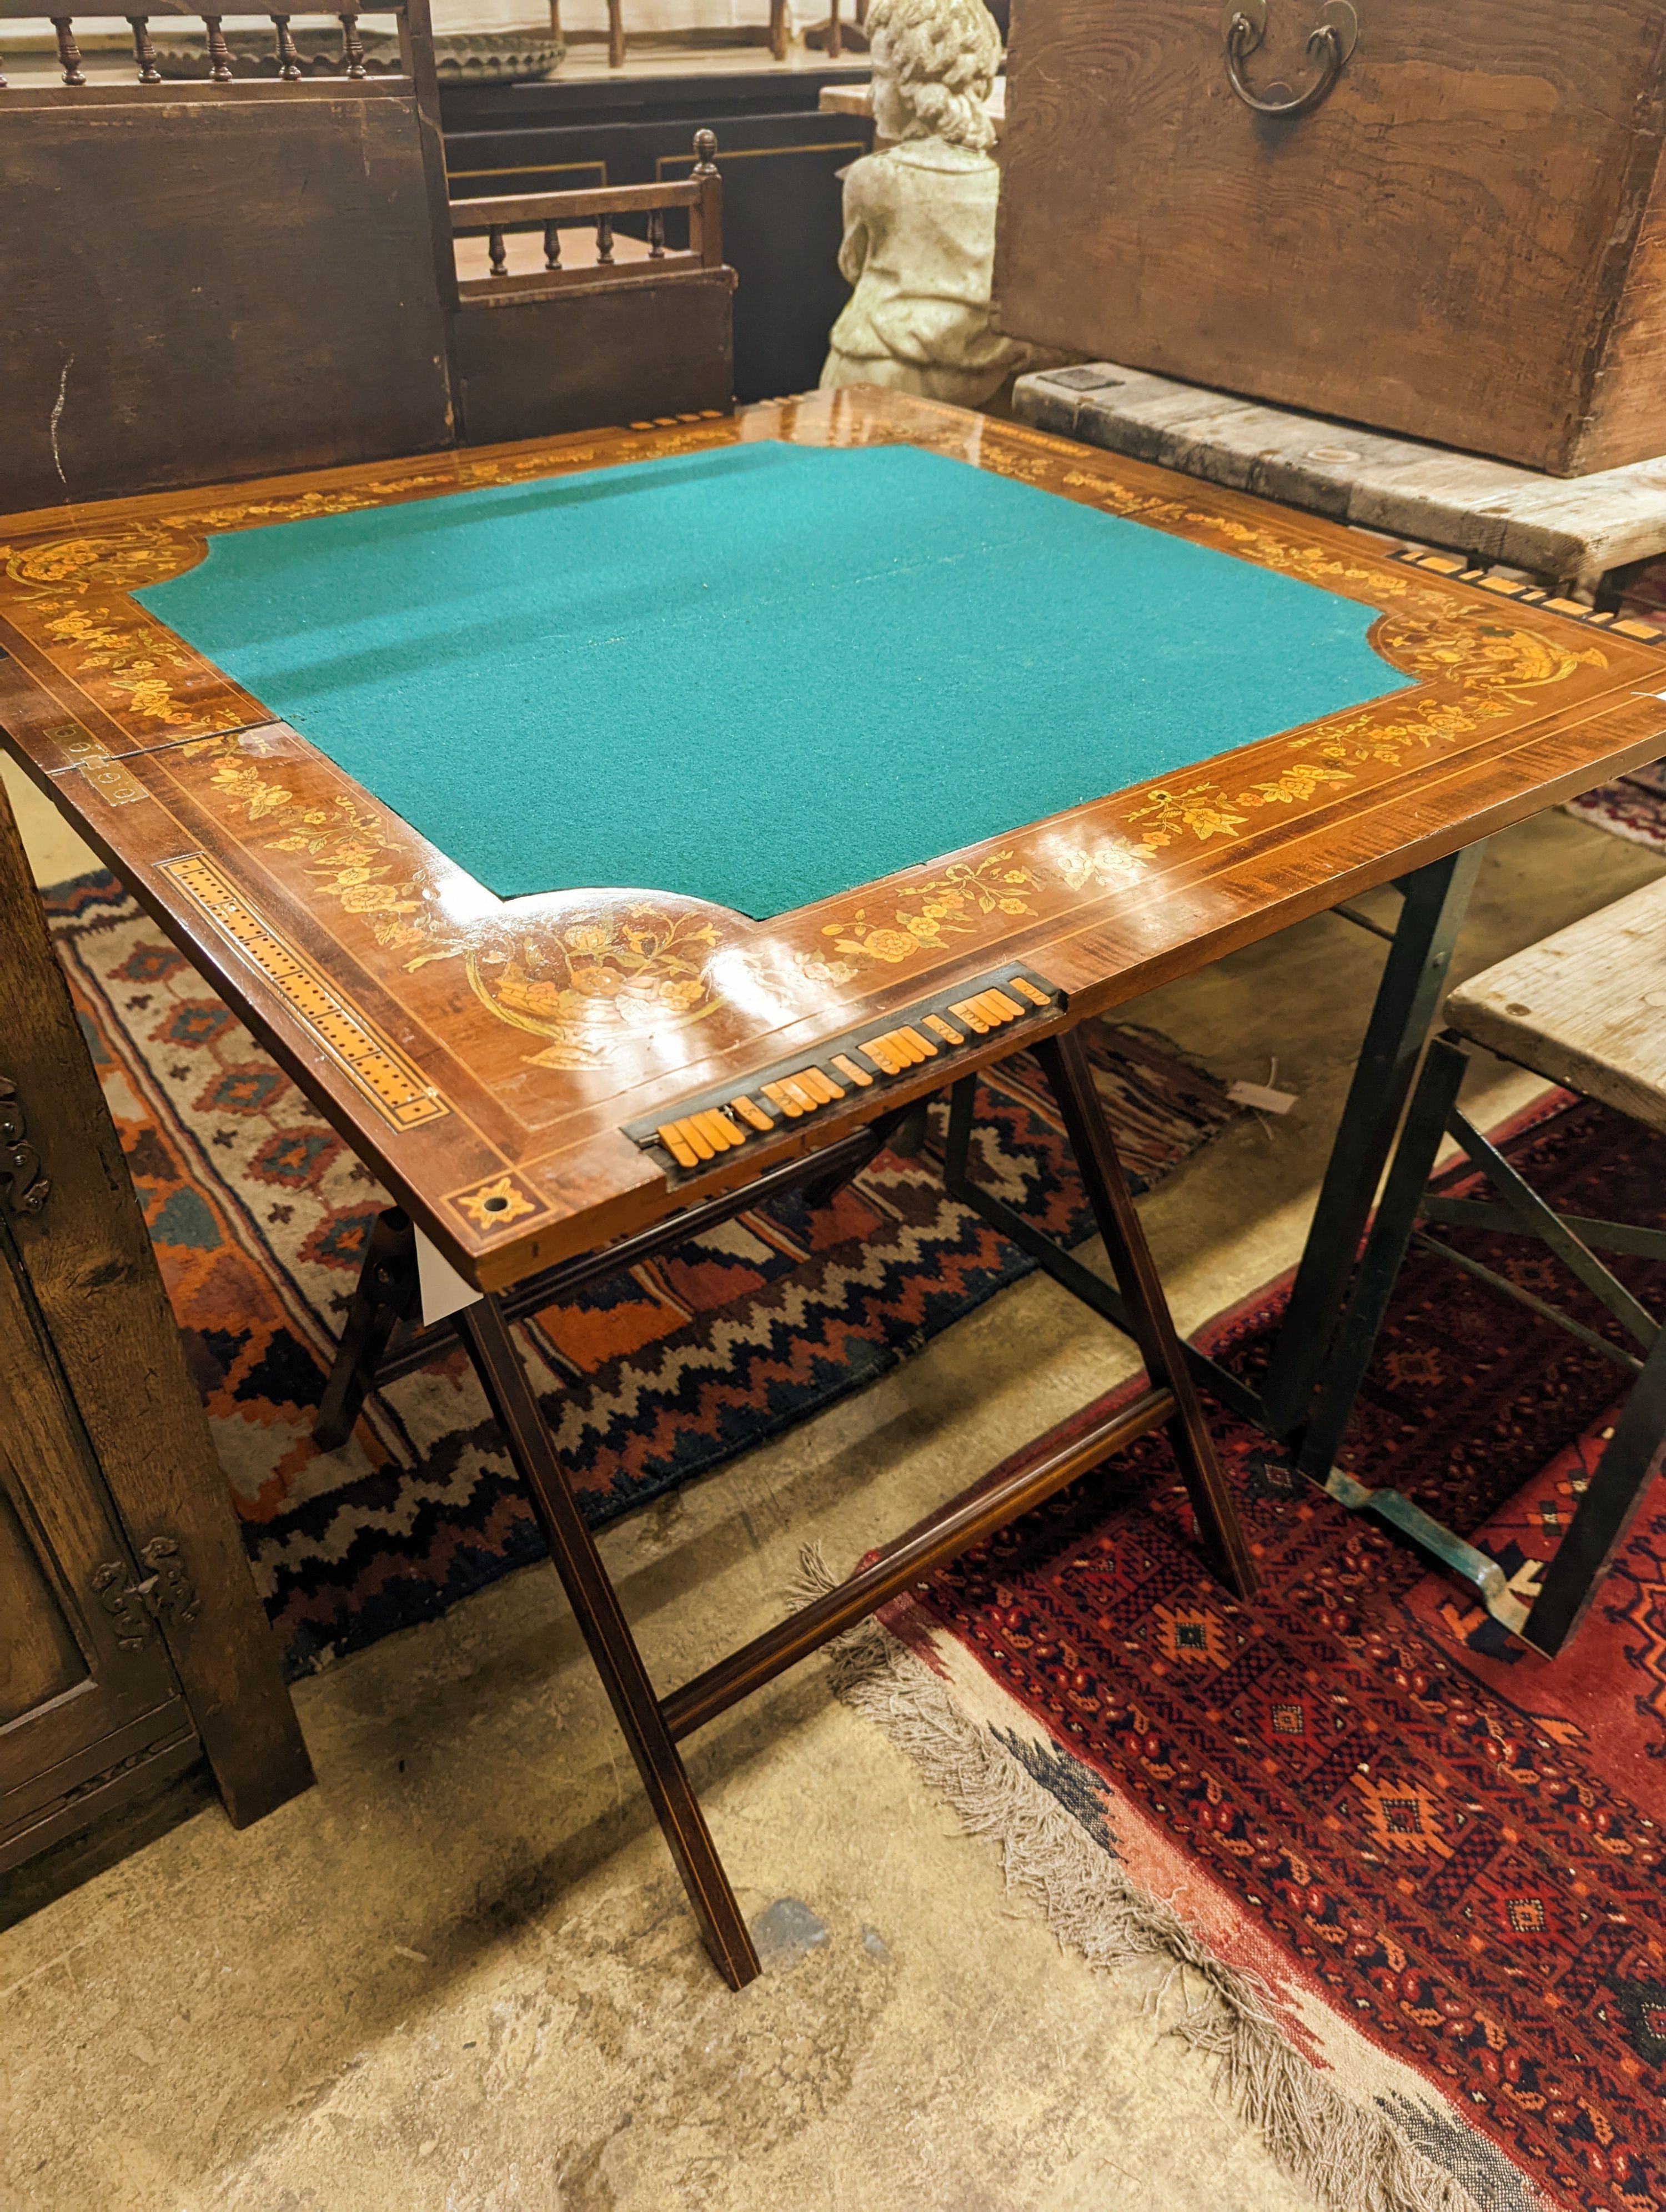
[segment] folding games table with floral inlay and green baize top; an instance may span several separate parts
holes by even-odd
[[[1157,1425],[1250,1593],[1197,1385],[1299,1438],[1480,841],[1666,750],[1644,624],[865,389],[0,540],[11,750],[396,1199],[319,1433],[467,1343],[737,1986],[757,1958],[677,1743]],[[1385,883],[1257,1394],[1177,1343],[1075,1031]],[[973,1077],[1020,1048],[1115,1287],[967,1172]],[[774,1190],[814,1201],[943,1091],[951,1186],[1135,1334],[1148,1387],[662,1697],[511,1323]]]

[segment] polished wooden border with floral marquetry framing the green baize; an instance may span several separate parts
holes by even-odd
[[[750,438],[912,440],[1217,546],[1381,611],[1372,641],[1416,679],[1365,708],[854,891],[752,922],[642,891],[498,900],[131,593],[212,531]],[[679,1119],[832,1035],[1024,960],[1102,1013],[1235,945],[1454,852],[1662,750],[1662,655],[1549,606],[1500,602],[1370,540],[1241,493],[925,400],[850,389],[735,418],[454,451],[175,491],[4,524],[0,719],[75,827],[226,989],[447,1259],[500,1287],[684,1203],[622,1124]],[[166,867],[164,867],[166,863]],[[301,1004],[192,896],[212,872],[259,916]],[[909,927],[856,922],[872,896]],[[631,949],[628,971],[622,953]],[[365,1084],[376,1040],[431,1110]],[[1002,1051],[978,1040],[985,1057]],[[381,1075],[378,1075],[381,1079]],[[912,1071],[918,1093],[934,1066]],[[885,1106],[907,1084],[885,1084]],[[440,1110],[442,1108],[442,1110]],[[881,1110],[858,1086],[701,1161],[701,1190]],[[489,1206],[482,1194],[496,1194]]]

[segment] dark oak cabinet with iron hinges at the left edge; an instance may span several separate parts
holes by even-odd
[[[195,1770],[239,1827],[312,1781],[0,792],[0,1911]]]

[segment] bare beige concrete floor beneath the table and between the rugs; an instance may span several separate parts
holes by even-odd
[[[1487,860],[1471,973],[1662,874],[1562,814]],[[1383,896],[1383,911],[1394,900]],[[1334,918],[1131,1013],[1301,1093],[1142,1203],[1181,1327],[1301,1243],[1381,962]],[[1535,1086],[1476,1071],[1496,1119]],[[602,1540],[664,1683],[1131,1369],[1042,1279]],[[1308,2212],[1060,1953],[819,1661],[695,1741],[768,1971],[706,1964],[555,1579],[303,1683],[319,1790],[204,1812],[0,1938],[0,2203],[29,2212]]]

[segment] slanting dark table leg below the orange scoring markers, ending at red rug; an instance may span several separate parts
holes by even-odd
[[[1146,1232],[1139,1228],[1139,1214],[1128,1197],[1128,1181],[1100,1095],[1093,1088],[1082,1037],[1075,1031],[1044,1037],[1035,1046],[1035,1057],[1064,1117],[1064,1133],[1071,1139],[1093,1221],[1111,1259],[1111,1272],[1128,1307],[1128,1327],[1146,1363],[1146,1376],[1153,1387],[1168,1385],[1175,1394],[1175,1418],[1168,1425],[1168,1436],[1197,1515],[1197,1537],[1228,1590],[1237,1597],[1252,1597],[1257,1577],[1239,1528],[1237,1506],[1226,1486],[1221,1462],[1215,1458],[1215,1440],[1204,1420],[1204,1407],[1146,1245]]]

